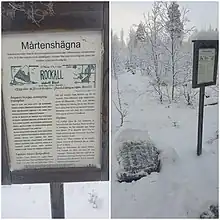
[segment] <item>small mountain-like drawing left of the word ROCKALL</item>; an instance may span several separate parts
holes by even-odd
[[[24,66],[11,66],[11,86],[24,85],[24,84],[37,84],[34,80],[34,70],[38,66],[24,65]]]

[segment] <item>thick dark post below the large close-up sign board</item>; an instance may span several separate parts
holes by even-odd
[[[52,218],[65,218],[63,183],[50,183],[50,202]]]

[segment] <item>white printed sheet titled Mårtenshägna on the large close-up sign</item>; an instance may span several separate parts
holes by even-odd
[[[101,168],[101,32],[4,35],[11,170]]]

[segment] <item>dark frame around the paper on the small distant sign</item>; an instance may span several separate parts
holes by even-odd
[[[218,69],[218,40],[194,40],[194,47],[193,47],[193,76],[192,76],[192,88],[200,88],[203,86],[211,86],[216,84],[217,79],[217,69]],[[207,48],[216,49],[215,53],[215,62],[214,62],[214,72],[213,74],[213,81],[206,82],[206,83],[197,83],[198,79],[198,58],[199,58],[199,49]]]

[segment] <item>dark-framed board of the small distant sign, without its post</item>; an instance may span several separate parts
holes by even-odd
[[[193,50],[192,87],[216,84],[218,67],[218,41],[196,40]]]

